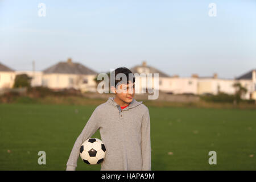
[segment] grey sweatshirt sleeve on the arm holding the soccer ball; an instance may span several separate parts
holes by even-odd
[[[88,122],[86,123],[84,129],[82,130],[79,137],[76,139],[76,142],[72,148],[71,154],[69,155],[69,159],[67,162],[67,171],[75,171],[77,167],[77,159],[79,158],[79,151],[81,144],[88,138],[92,137],[92,135],[99,128],[99,119],[97,118],[97,108],[93,111],[90,116]]]

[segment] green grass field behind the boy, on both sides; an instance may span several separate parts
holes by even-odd
[[[64,170],[96,106],[1,104],[0,170]],[[152,170],[256,170],[256,110],[148,107]],[[100,138],[97,131],[93,137]],[[38,151],[46,151],[46,165]],[[209,165],[209,151],[217,165]],[[100,170],[79,158],[77,170]]]

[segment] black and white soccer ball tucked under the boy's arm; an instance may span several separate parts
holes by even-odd
[[[98,138],[89,138],[80,147],[80,157],[86,164],[100,164],[105,155],[106,148]]]

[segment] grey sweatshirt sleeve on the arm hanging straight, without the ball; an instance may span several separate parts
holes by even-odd
[[[142,171],[151,171],[150,114],[147,109],[141,125]]]

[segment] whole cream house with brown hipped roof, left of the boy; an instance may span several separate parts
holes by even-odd
[[[44,69],[42,85],[51,89],[74,88],[81,92],[96,92],[96,76],[97,72],[68,59]]]

